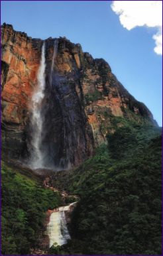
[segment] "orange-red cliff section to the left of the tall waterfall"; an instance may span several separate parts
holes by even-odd
[[[40,62],[40,42],[37,47],[27,34],[16,32],[11,25],[1,27],[1,104],[3,146],[14,156],[26,147],[25,127],[28,105]]]

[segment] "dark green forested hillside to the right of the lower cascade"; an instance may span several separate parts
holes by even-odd
[[[72,240],[50,253],[160,255],[160,129],[119,127],[73,174],[69,189],[80,196],[72,215]]]

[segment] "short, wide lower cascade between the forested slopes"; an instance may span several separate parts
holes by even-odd
[[[50,215],[50,221],[46,229],[46,235],[48,235],[50,239],[49,247],[52,247],[52,245],[64,245],[68,242],[68,239],[71,239],[65,212],[70,211],[70,207],[74,204],[76,204],[76,202],[55,209],[55,212],[52,212]]]

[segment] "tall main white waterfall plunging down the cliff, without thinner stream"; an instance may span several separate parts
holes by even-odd
[[[41,149],[42,146],[42,101],[44,99],[45,89],[45,44],[42,45],[42,54],[40,60],[40,67],[37,74],[37,88],[32,95],[32,116],[30,124],[32,126],[32,159],[31,165],[33,168],[42,168],[44,166],[44,152]]]

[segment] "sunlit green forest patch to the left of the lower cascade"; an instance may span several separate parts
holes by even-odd
[[[2,162],[1,253],[26,255],[38,247],[45,213],[60,205],[60,194],[42,188],[40,180]]]

